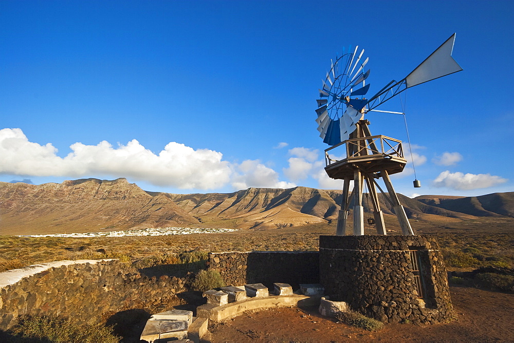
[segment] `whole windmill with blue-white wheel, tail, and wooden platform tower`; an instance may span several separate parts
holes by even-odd
[[[336,235],[345,234],[352,200],[354,235],[364,234],[364,182],[368,186],[374,207],[374,219],[370,218],[369,221],[376,224],[378,234],[386,235],[386,227],[377,188],[393,206],[403,235],[414,235],[405,209],[400,204],[389,178],[391,174],[400,173],[407,163],[401,141],[383,135],[372,136],[368,127],[370,122],[364,119],[364,115],[370,111],[403,114],[376,108],[407,88],[461,71],[462,68],[451,56],[454,42],[455,33],[407,77],[400,81],[391,81],[370,99],[364,98],[370,88],[370,84],[366,84],[370,70],[365,70],[369,58],[363,59],[364,49],[359,52],[357,46],[355,50],[348,49],[346,53],[343,50],[343,54],[332,61],[331,68],[322,81],[322,88],[319,89],[316,122],[323,142],[331,146],[325,150],[325,171],[329,177],[343,180],[343,197]],[[346,147],[345,158],[329,156],[329,151],[341,145]],[[379,178],[386,185],[388,194],[377,183]],[[350,195],[352,180],[354,188]],[[414,181],[414,186],[419,186],[417,180]]]

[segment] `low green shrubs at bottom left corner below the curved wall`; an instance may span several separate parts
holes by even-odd
[[[111,327],[47,317],[24,317],[9,333],[15,337],[12,339],[14,342],[27,341],[27,338],[38,342],[119,342],[119,337],[113,334]]]

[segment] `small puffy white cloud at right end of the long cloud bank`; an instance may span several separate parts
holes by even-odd
[[[232,178],[234,189],[246,189],[248,187],[296,187],[294,183],[279,181],[279,174],[258,160],[243,161],[243,163],[237,166],[237,170],[242,174],[237,174]]]

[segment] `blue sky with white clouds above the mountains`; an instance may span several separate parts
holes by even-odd
[[[0,2],[0,181],[125,177],[145,190],[341,188],[324,174],[316,99],[359,45],[370,94],[456,32],[464,71],[402,95],[412,166],[397,192],[513,190],[509,1]],[[380,109],[401,111],[398,97]],[[373,134],[407,143],[402,116]],[[407,145],[404,147],[407,149]]]

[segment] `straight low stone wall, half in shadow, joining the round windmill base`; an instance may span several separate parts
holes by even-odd
[[[252,251],[210,253],[208,268],[221,274],[227,285],[273,282],[319,283],[319,252]]]

